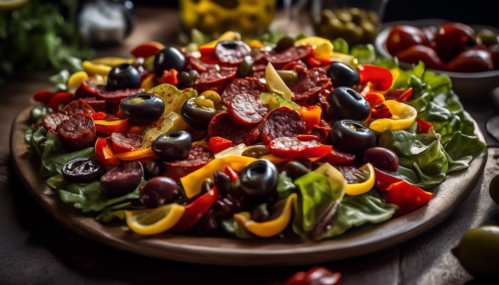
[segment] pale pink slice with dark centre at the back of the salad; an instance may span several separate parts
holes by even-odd
[[[215,46],[215,56],[223,65],[238,66],[251,51],[249,45],[240,40],[219,41]]]

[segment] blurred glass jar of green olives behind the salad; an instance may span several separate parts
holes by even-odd
[[[388,0],[312,0],[311,14],[318,36],[344,38],[348,44],[372,43],[381,28]]]

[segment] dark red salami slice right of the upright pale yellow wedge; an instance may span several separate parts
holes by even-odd
[[[331,80],[327,77],[326,71],[321,68],[312,68],[303,72],[296,82],[289,86],[289,89],[294,93],[293,101],[308,100],[316,94],[324,91],[332,85]]]

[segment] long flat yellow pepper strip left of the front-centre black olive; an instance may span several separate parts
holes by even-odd
[[[241,171],[246,165],[255,161],[256,158],[241,155],[229,155],[222,158],[215,158],[198,170],[180,178],[187,198],[196,196],[201,192],[201,184],[206,178],[213,178],[215,171],[223,171],[226,166],[230,166],[236,171]]]

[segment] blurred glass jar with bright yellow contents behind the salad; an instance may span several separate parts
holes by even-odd
[[[275,0],[179,0],[179,4],[183,28],[210,35],[227,30],[246,37],[261,34],[275,11]]]

